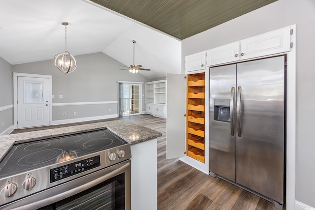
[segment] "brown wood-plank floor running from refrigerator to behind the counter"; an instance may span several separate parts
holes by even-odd
[[[270,202],[220,178],[213,178],[183,163],[166,159],[166,119],[151,115],[108,120],[129,120],[162,133],[158,138],[158,210],[277,210]],[[107,120],[15,130],[50,129]],[[148,208],[150,210],[150,208]]]

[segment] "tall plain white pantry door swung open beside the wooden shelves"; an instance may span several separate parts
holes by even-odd
[[[166,158],[185,156],[186,80],[184,74],[167,74]]]

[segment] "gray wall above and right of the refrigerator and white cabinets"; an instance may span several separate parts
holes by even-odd
[[[184,57],[297,24],[296,200],[315,207],[315,0],[278,0],[182,41]]]

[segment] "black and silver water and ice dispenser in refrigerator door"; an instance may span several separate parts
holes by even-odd
[[[230,122],[230,99],[215,98],[214,102],[214,120]]]

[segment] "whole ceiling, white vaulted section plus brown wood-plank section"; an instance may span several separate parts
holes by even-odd
[[[143,75],[181,73],[182,39],[274,1],[0,0],[0,57],[12,65],[53,60],[64,51],[66,21],[73,56],[103,52],[129,66],[136,40],[135,64],[151,69]]]

